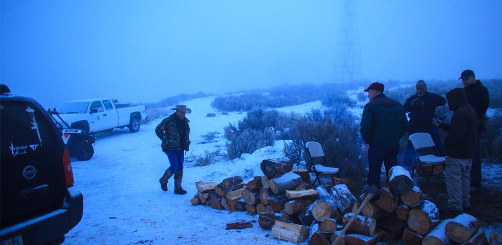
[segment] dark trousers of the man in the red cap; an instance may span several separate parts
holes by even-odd
[[[368,185],[380,188],[382,163],[385,164],[386,176],[389,170],[398,165],[398,146],[369,146],[368,149]],[[387,180],[389,181],[389,180]]]

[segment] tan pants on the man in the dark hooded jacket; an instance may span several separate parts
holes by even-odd
[[[469,207],[469,172],[472,159],[446,158],[446,190],[448,191],[448,207],[462,211]]]

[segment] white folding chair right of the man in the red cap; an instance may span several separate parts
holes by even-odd
[[[434,145],[431,135],[427,133],[416,133],[410,135],[411,141],[417,156],[414,161],[411,177],[415,174],[415,169],[418,166],[417,174],[427,179],[427,184],[430,185],[429,177],[442,176],[445,169],[445,157],[439,157],[439,152]],[[442,167],[442,169],[440,169]],[[428,171],[430,169],[430,171]]]

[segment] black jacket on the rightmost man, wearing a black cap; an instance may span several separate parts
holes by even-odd
[[[481,81],[476,80],[475,83],[465,86],[464,91],[467,96],[467,102],[469,102],[470,106],[476,111],[479,121],[478,131],[484,131],[486,125],[486,110],[490,104],[488,89],[481,84]]]

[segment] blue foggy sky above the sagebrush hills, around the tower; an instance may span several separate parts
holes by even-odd
[[[330,83],[341,3],[2,0],[0,82],[47,107]],[[502,77],[502,1],[356,8],[360,79]]]

